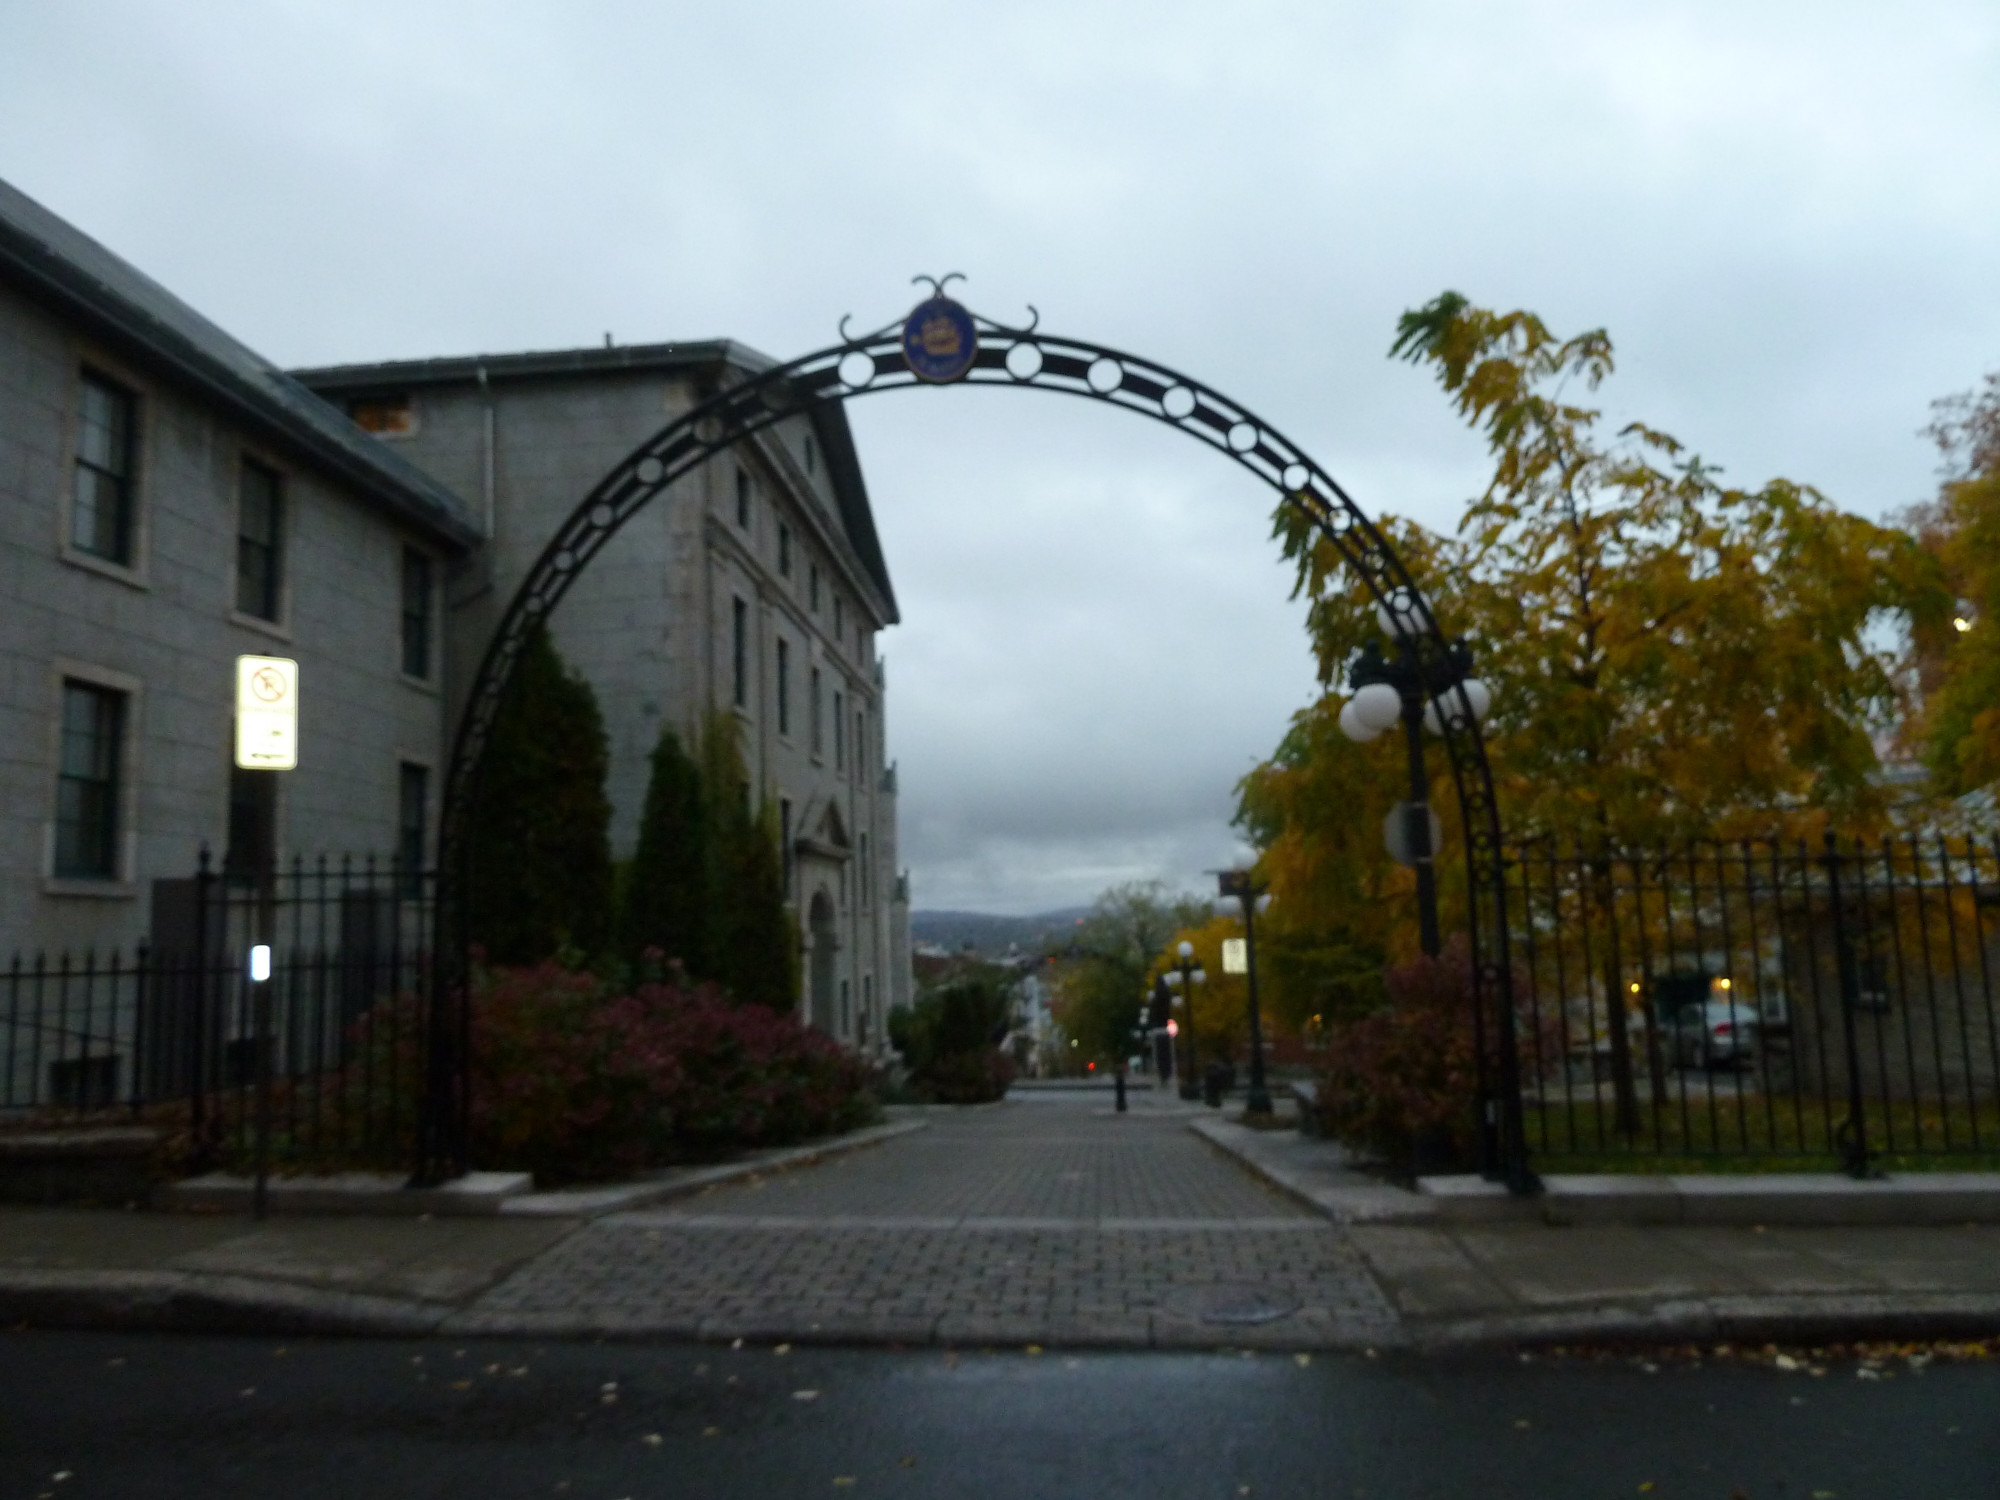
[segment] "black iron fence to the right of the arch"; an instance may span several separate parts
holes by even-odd
[[[1510,884],[1542,1170],[2000,1164],[2000,840],[1544,844]]]

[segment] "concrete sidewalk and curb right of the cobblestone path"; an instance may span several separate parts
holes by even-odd
[[[2000,1228],[1946,1224],[1936,1212],[1930,1224],[1878,1222],[1884,1200],[1922,1202],[1926,1184],[1570,1180],[1524,1202],[1488,1184],[1396,1188],[1356,1172],[1332,1142],[1296,1132],[1212,1114],[1190,1126],[1342,1224],[1414,1346],[2000,1334]],[[2000,1194],[1986,1174],[1928,1186],[1930,1210]],[[1724,1222],[1690,1222],[1708,1212],[1704,1200]],[[1602,1216],[1606,1204],[1632,1218],[1590,1222],[1588,1210]],[[1838,1220],[1842,1204],[1852,1222],[1796,1222],[1802,1206]],[[1758,1222],[1764,1214],[1772,1222]]]

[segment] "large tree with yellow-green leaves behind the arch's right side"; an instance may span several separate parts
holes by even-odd
[[[1446,292],[1402,316],[1390,352],[1436,376],[1494,462],[1456,536],[1384,530],[1492,688],[1510,842],[1644,848],[1882,824],[1876,746],[1914,708],[1912,644],[1950,618],[1932,554],[1806,484],[1726,486],[1658,428],[1606,430],[1582,404],[1612,372],[1602,330],[1558,338],[1532,312]],[[1374,950],[1414,948],[1408,878],[1380,852],[1380,812],[1406,772],[1400,736],[1348,746],[1334,728],[1346,670],[1380,634],[1366,586],[1290,508],[1276,530],[1332,694],[1246,778],[1240,814],[1276,896],[1274,952],[1318,946],[1298,974],[1330,986]],[[1462,848],[1456,802],[1438,792],[1446,850]],[[1440,860],[1446,928],[1464,900],[1456,872]],[[1614,1006],[1620,1114],[1636,1120],[1622,1022]]]

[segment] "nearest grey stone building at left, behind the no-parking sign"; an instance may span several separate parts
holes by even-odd
[[[130,948],[202,844],[388,854],[444,742],[438,578],[474,510],[0,182],[0,962]],[[240,654],[302,752],[238,772]]]

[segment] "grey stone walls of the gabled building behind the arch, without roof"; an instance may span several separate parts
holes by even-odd
[[[378,370],[382,390],[396,388],[396,370]],[[352,372],[342,378],[360,380]],[[490,544],[452,584],[454,714],[500,610],[548,538],[616,462],[698,400],[692,378],[590,370],[424,380],[408,372],[414,428],[390,442],[476,510],[490,510],[494,526]],[[738,516],[738,474],[750,482],[748,526]],[[748,622],[742,704],[734,702],[736,600]],[[556,648],[590,680],[604,710],[618,858],[636,844],[648,756],[662,726],[692,742],[710,708],[738,716],[752,780],[762,796],[792,804],[794,832],[806,834],[808,822],[818,826],[826,808],[838,806],[848,846],[800,856],[792,900],[802,928],[814,894],[834,906],[838,954],[826,1020],[842,1040],[870,1050],[886,1046],[882,1014],[894,970],[894,798],[880,792],[884,694],[874,654],[882,624],[806,418],[778,424],[676,482],[598,554],[550,618]],[[786,714],[778,710],[780,640],[790,658]]]

